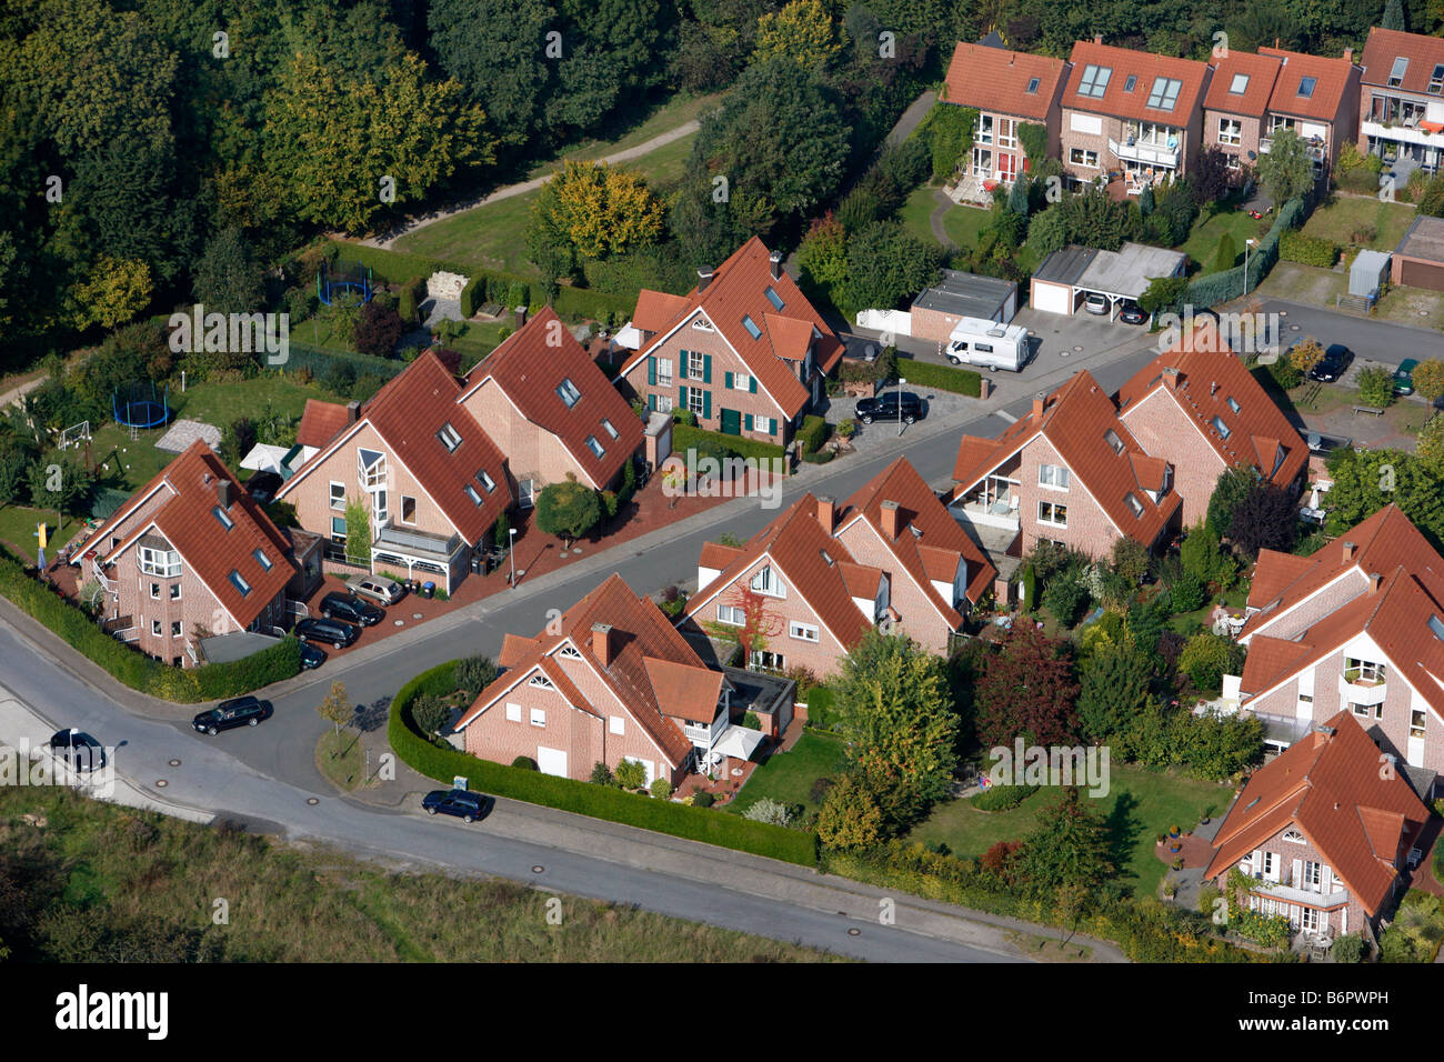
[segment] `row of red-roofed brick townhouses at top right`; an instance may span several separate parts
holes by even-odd
[[[1047,131],[1047,155],[1070,182],[1119,181],[1128,194],[1188,173],[1209,147],[1242,173],[1281,129],[1307,143],[1320,173],[1349,142],[1434,170],[1444,149],[1444,39],[1375,27],[1359,56],[1259,48],[1199,62],[1100,36],[1054,59],[991,35],[957,45],[943,100],[978,108],[963,178],[975,198],[1030,170],[1025,124]]]

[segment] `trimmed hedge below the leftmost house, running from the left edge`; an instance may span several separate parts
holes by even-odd
[[[166,701],[215,701],[250,694],[300,672],[300,643],[283,639],[243,660],[206,663],[189,670],[153,660],[117,642],[91,617],[53,590],[32,579],[25,566],[0,548],[0,594],[29,614],[111,678],[142,694]]]

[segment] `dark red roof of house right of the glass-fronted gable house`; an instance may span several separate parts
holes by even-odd
[[[487,380],[501,387],[527,420],[554,435],[598,490],[605,488],[641,446],[643,425],[631,405],[550,306],[543,306],[471,370],[462,400]],[[563,380],[570,380],[582,393],[570,407],[557,394]],[[618,438],[611,436],[604,420]],[[602,446],[602,457],[596,457],[588,438]]]

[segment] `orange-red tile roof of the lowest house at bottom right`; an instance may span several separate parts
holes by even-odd
[[[1315,730],[1255,772],[1219,826],[1206,877],[1295,826],[1372,916],[1392,894],[1395,863],[1428,809],[1401,774],[1382,776],[1379,748],[1350,712],[1327,728],[1333,734]]]

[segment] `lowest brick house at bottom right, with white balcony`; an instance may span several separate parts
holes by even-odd
[[[1318,942],[1375,939],[1417,857],[1428,809],[1347,711],[1320,724],[1243,786],[1204,877],[1249,878],[1248,905]]]

